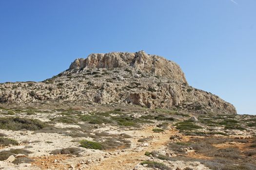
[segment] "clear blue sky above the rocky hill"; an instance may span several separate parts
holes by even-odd
[[[256,0],[0,0],[0,82],[42,81],[90,53],[139,50],[256,114]]]

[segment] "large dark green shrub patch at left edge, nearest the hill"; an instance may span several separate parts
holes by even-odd
[[[13,131],[26,129],[33,131],[42,129],[47,126],[49,125],[37,119],[26,119],[19,117],[0,118],[0,129]]]

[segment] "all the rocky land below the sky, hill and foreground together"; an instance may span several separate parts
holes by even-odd
[[[2,170],[256,170],[256,116],[144,51],[0,84]]]

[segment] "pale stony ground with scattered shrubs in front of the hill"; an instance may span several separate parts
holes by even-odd
[[[256,170],[255,148],[256,116],[0,105],[3,170]]]

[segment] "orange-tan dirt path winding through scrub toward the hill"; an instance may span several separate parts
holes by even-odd
[[[152,129],[153,127],[148,127],[142,131],[138,131],[138,134],[144,134],[143,136],[146,137],[152,135],[157,136],[148,147],[143,147],[142,151],[133,151],[137,147],[132,147],[129,151],[102,160],[99,165],[90,167],[90,170],[133,170],[138,163],[145,160],[145,151],[155,151],[164,147],[170,141],[170,136],[177,132],[171,129],[166,130],[164,134],[153,133]],[[137,140],[138,138],[133,143],[137,144]]]

